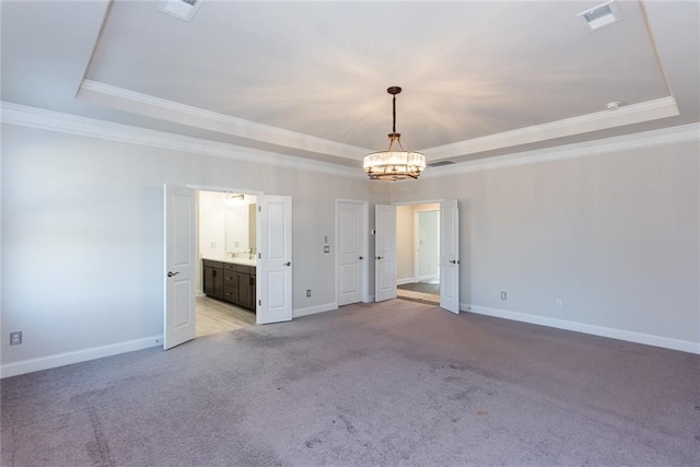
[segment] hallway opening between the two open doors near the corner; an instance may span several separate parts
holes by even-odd
[[[396,209],[397,296],[440,304],[440,203]]]

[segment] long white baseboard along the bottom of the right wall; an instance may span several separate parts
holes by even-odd
[[[584,323],[549,318],[546,316],[511,312],[508,310],[489,308],[488,306],[470,305],[468,303],[462,303],[459,310],[479,315],[493,316],[497,318],[530,323],[534,325],[573,330],[576,332],[591,334],[593,336],[609,337],[611,339],[626,340],[628,342],[644,343],[646,346],[662,347],[664,349],[680,350],[681,352],[700,354],[700,342],[692,342],[689,340],[672,339],[663,336],[653,336],[650,334],[587,325]]]

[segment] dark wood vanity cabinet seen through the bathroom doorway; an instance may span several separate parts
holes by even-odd
[[[256,308],[255,266],[202,259],[203,292],[243,308]]]

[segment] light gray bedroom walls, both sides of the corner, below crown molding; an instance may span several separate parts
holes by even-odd
[[[323,253],[336,198],[369,200],[371,212],[376,202],[456,198],[465,310],[700,352],[697,141],[382,184],[2,130],[3,366],[162,334],[164,183],[291,196],[295,311],[336,302],[335,255]],[[9,346],[14,330],[22,346]]]

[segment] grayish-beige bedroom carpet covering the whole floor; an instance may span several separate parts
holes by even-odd
[[[700,465],[700,355],[408,300],[0,385],[7,467]]]

